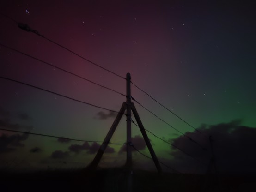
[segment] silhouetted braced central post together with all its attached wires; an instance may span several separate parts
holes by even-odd
[[[158,161],[158,158],[156,157],[156,155],[155,155],[155,153],[154,153],[154,150],[153,150],[153,148],[152,148],[152,145],[151,145],[151,143],[150,143],[149,138],[147,137],[146,132],[151,133],[154,137],[156,137],[156,138],[158,138],[158,139],[161,139],[161,138],[159,138],[157,135],[155,135],[154,133],[152,133],[152,132],[150,132],[150,131],[148,131],[148,130],[146,130],[146,129],[144,128],[144,126],[142,125],[142,122],[141,122],[141,120],[140,120],[139,114],[137,113],[136,108],[135,108],[135,106],[134,106],[134,103],[131,102],[131,100],[133,100],[134,102],[137,102],[141,107],[143,107],[144,109],[146,109],[148,112],[150,112],[151,114],[153,114],[155,117],[157,117],[159,120],[163,121],[165,124],[167,124],[168,126],[170,126],[171,128],[173,128],[173,129],[176,130],[177,132],[181,133],[184,137],[188,138],[191,142],[193,142],[193,143],[197,144],[198,146],[200,146],[203,150],[207,150],[207,149],[204,148],[201,144],[199,144],[198,142],[196,142],[194,139],[190,138],[188,135],[186,135],[186,134],[184,134],[183,132],[179,131],[177,128],[171,126],[171,125],[170,125],[169,123],[167,123],[165,120],[163,120],[163,119],[160,118],[158,115],[154,114],[152,111],[150,111],[149,109],[147,109],[146,107],[144,107],[143,105],[141,105],[140,102],[138,102],[137,100],[135,100],[134,97],[131,96],[131,86],[130,86],[131,84],[133,84],[133,85],[134,85],[137,89],[139,89],[140,91],[144,92],[147,96],[149,96],[150,98],[152,98],[155,102],[157,102],[157,103],[158,103],[159,105],[161,105],[163,108],[165,108],[166,110],[168,110],[171,114],[175,115],[178,119],[182,120],[184,123],[186,123],[187,125],[189,125],[190,127],[192,127],[195,131],[197,131],[197,132],[199,132],[199,133],[201,133],[201,134],[203,135],[203,133],[200,132],[198,129],[196,129],[194,126],[191,126],[187,121],[183,120],[179,115],[173,113],[170,109],[166,108],[163,104],[161,104],[161,103],[158,102],[155,98],[153,98],[152,96],[150,96],[146,91],[142,90],[142,89],[141,89],[140,87],[138,87],[136,84],[134,84],[133,82],[131,82],[131,77],[130,77],[130,74],[129,74],[129,73],[127,73],[126,78],[124,78],[124,77],[122,77],[121,75],[119,75],[119,74],[117,74],[117,73],[115,73],[115,72],[113,72],[113,71],[111,71],[111,70],[109,70],[109,69],[107,69],[107,68],[105,68],[105,67],[103,67],[103,66],[100,66],[100,65],[98,65],[97,63],[95,63],[95,62],[93,62],[93,61],[91,61],[91,60],[88,60],[87,58],[81,56],[80,54],[75,53],[74,51],[72,51],[71,49],[69,49],[69,48],[67,48],[67,47],[65,47],[65,46],[63,46],[63,45],[61,45],[60,43],[57,43],[57,42],[55,42],[55,41],[53,41],[53,40],[51,40],[51,39],[49,39],[49,38],[43,36],[43,35],[42,35],[41,33],[39,33],[37,30],[32,29],[28,24],[24,24],[24,23],[17,22],[17,21],[14,20],[13,18],[11,18],[11,17],[9,17],[9,16],[7,16],[7,15],[5,15],[5,14],[2,14],[2,13],[0,13],[0,14],[3,15],[3,16],[5,16],[5,17],[8,18],[8,19],[11,19],[13,22],[15,22],[16,24],[18,24],[18,27],[19,27],[20,29],[22,29],[22,30],[24,30],[24,31],[26,31],[26,32],[32,32],[32,33],[36,34],[37,36],[40,36],[40,37],[42,37],[43,39],[45,39],[45,40],[47,40],[47,41],[49,41],[49,42],[51,42],[51,43],[57,45],[58,47],[61,47],[61,48],[65,49],[65,50],[67,50],[68,52],[70,52],[70,53],[76,55],[77,57],[79,57],[79,58],[81,58],[81,59],[83,59],[83,60],[85,60],[85,61],[91,63],[92,65],[97,66],[97,67],[103,69],[104,71],[109,72],[109,73],[115,75],[116,77],[119,77],[119,78],[122,78],[122,79],[125,79],[125,80],[126,80],[126,83],[127,83],[127,84],[126,84],[127,93],[126,93],[126,95],[124,95],[124,94],[122,94],[122,93],[119,92],[119,91],[116,91],[116,90],[113,90],[113,89],[111,89],[111,88],[109,88],[109,87],[106,87],[106,86],[103,86],[103,85],[101,85],[101,84],[95,83],[95,82],[93,82],[93,81],[91,81],[91,80],[89,80],[89,79],[87,79],[87,78],[81,77],[81,76],[79,76],[79,75],[77,75],[77,74],[75,74],[75,73],[73,73],[73,72],[69,72],[69,71],[67,71],[67,70],[65,70],[65,69],[63,69],[63,68],[61,68],[61,67],[55,66],[55,65],[50,64],[50,63],[48,63],[48,62],[46,62],[46,61],[43,61],[43,60],[38,59],[38,58],[36,58],[36,57],[33,57],[33,56],[29,55],[29,54],[25,54],[24,52],[21,52],[21,51],[15,49],[15,48],[11,48],[11,47],[9,47],[9,46],[6,46],[6,45],[3,45],[3,44],[0,43],[0,45],[3,46],[3,47],[5,47],[5,48],[9,48],[9,49],[11,49],[11,50],[13,50],[13,51],[16,51],[16,52],[20,53],[20,54],[23,54],[23,55],[25,55],[25,56],[28,56],[28,57],[30,57],[30,58],[32,58],[32,59],[34,59],[34,60],[40,61],[40,62],[42,62],[42,63],[44,63],[44,64],[46,64],[46,65],[53,66],[53,67],[55,67],[55,68],[57,68],[57,69],[59,69],[59,70],[61,70],[61,71],[63,71],[63,72],[67,72],[67,73],[69,73],[69,74],[71,74],[71,75],[73,75],[73,76],[76,76],[76,77],[78,77],[78,78],[81,78],[81,79],[83,79],[83,80],[86,80],[86,81],[88,81],[88,82],[90,82],[90,83],[92,83],[92,84],[95,84],[95,85],[98,85],[98,86],[100,86],[100,87],[103,87],[104,89],[113,91],[113,92],[115,92],[115,93],[117,93],[117,94],[120,94],[120,95],[122,95],[122,96],[126,96],[127,100],[126,100],[126,102],[123,102],[120,111],[115,111],[115,110],[111,110],[111,109],[108,109],[108,108],[104,108],[104,107],[101,107],[101,106],[98,106],[98,105],[95,105],[95,104],[91,104],[91,103],[88,103],[88,102],[80,101],[80,100],[77,100],[77,99],[75,99],[75,98],[72,98],[72,97],[69,97],[69,96],[65,96],[65,95],[62,95],[62,94],[60,94],[60,93],[56,93],[56,92],[54,92],[54,91],[47,90],[47,89],[44,89],[44,88],[41,88],[41,87],[38,87],[38,86],[35,86],[35,85],[27,84],[27,83],[24,83],[24,82],[21,82],[21,81],[18,81],[18,80],[14,80],[14,79],[11,79],[11,78],[7,78],[7,77],[2,77],[2,76],[0,76],[0,78],[5,79],[5,80],[9,80],[9,81],[12,81],[12,82],[15,82],[15,83],[19,83],[19,84],[24,84],[24,85],[30,86],[30,87],[32,87],[32,88],[36,88],[36,89],[38,89],[38,90],[43,90],[43,91],[46,91],[46,92],[49,92],[49,93],[52,93],[52,94],[55,94],[55,95],[58,95],[58,96],[62,96],[62,97],[64,97],[64,98],[67,98],[67,99],[70,99],[70,100],[73,100],[73,101],[76,101],[76,102],[80,102],[80,103],[84,103],[84,104],[90,105],[90,106],[95,107],[95,108],[101,108],[101,109],[104,109],[104,110],[108,110],[108,111],[110,111],[110,112],[115,112],[115,113],[117,113],[116,120],[113,122],[112,126],[110,127],[110,130],[109,130],[108,134],[106,135],[104,141],[87,141],[87,140],[79,140],[79,139],[66,138],[66,139],[75,140],[75,141],[87,141],[87,142],[98,142],[98,143],[102,143],[100,149],[98,150],[97,155],[95,156],[93,162],[91,163],[92,167],[97,167],[98,162],[100,161],[100,159],[101,159],[101,157],[102,157],[102,155],[103,155],[103,153],[104,153],[104,150],[106,149],[107,145],[108,145],[108,144],[114,144],[114,143],[110,143],[110,139],[111,139],[113,133],[115,132],[116,126],[118,125],[119,121],[121,120],[122,115],[125,114],[126,117],[127,117],[127,142],[126,142],[126,145],[127,145],[127,146],[126,146],[126,147],[127,147],[127,161],[126,161],[126,165],[127,165],[128,170],[130,171],[130,177],[128,176],[128,192],[131,192],[131,190],[132,190],[132,188],[131,188],[131,185],[132,185],[132,184],[131,184],[131,173],[132,173],[132,156],[131,156],[131,149],[134,148],[134,150],[136,150],[137,152],[139,152],[141,155],[146,156],[145,154],[143,154],[143,153],[141,153],[139,150],[137,150],[137,149],[134,147],[134,145],[132,144],[132,141],[131,141],[131,122],[134,123],[134,121],[131,119],[131,111],[133,112],[134,117],[135,117],[135,119],[136,119],[138,125],[136,125],[135,123],[134,123],[134,124],[140,128],[140,131],[141,131],[141,133],[142,133],[142,136],[143,136],[143,138],[144,138],[144,140],[145,140],[145,142],[146,142],[146,145],[147,145],[147,147],[148,147],[148,149],[149,149],[149,151],[150,151],[150,154],[151,154],[151,156],[152,156],[152,158],[149,157],[149,156],[146,156],[146,157],[148,157],[148,158],[150,158],[150,159],[152,159],[152,160],[154,161],[155,166],[156,166],[156,168],[158,169],[158,172],[159,172],[159,173],[162,172],[162,169],[161,169],[161,166],[160,166],[159,163],[165,165],[163,162],[159,162],[159,161]],[[125,110],[126,110],[126,113],[125,113]],[[0,130],[12,131],[12,130],[7,130],[7,129],[0,129]],[[34,134],[34,135],[46,136],[46,137],[53,137],[53,138],[60,138],[60,137],[57,137],[57,136],[44,135],[44,134],[38,134],[38,133],[30,133],[30,132],[22,132],[22,131],[14,131],[14,132],[27,133],[27,134]],[[173,146],[174,148],[176,148],[176,149],[178,149],[178,150],[181,150],[180,148],[178,148],[177,146],[171,144],[170,142],[165,141],[164,139],[161,139],[161,140],[164,141],[164,142],[167,143],[167,144],[170,144],[170,145]],[[189,155],[189,154],[186,153],[185,151],[183,151],[183,150],[181,150],[181,151],[182,151],[184,154],[186,154],[187,156],[190,156],[190,157],[194,158],[195,160],[201,162],[200,160],[198,160],[198,159],[196,159],[195,157]],[[204,162],[201,162],[201,163],[206,164],[206,163],[204,163]],[[168,167],[168,168],[171,168],[171,167],[169,167],[169,166],[167,166],[167,165],[165,165],[165,166]],[[174,170],[174,171],[176,171],[176,170],[173,169],[173,168],[171,168],[171,169]],[[178,171],[176,171],[176,172],[178,172]]]

